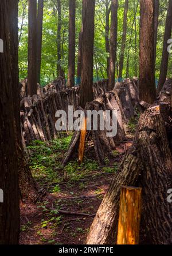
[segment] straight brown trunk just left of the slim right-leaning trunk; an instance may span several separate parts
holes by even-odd
[[[112,0],[111,5],[111,35],[110,35],[110,67],[108,89],[112,90],[115,86],[115,61],[118,34],[118,0]]]

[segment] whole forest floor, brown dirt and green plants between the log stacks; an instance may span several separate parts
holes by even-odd
[[[84,243],[114,173],[132,145],[135,125],[135,122],[129,123],[130,138],[114,150],[113,159],[107,159],[105,167],[99,167],[95,161],[93,144],[89,142],[84,163],[79,165],[77,160],[72,160],[62,170],[61,160],[72,135],[50,142],[32,142],[28,147],[32,174],[52,199],[37,204],[22,202],[20,244]],[[73,159],[77,159],[77,155]],[[65,213],[59,212],[61,210]]]

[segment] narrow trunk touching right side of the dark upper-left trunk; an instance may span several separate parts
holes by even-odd
[[[44,0],[38,0],[38,15],[37,15],[37,82],[38,84],[40,84],[40,76],[41,76],[43,12],[44,12]]]

